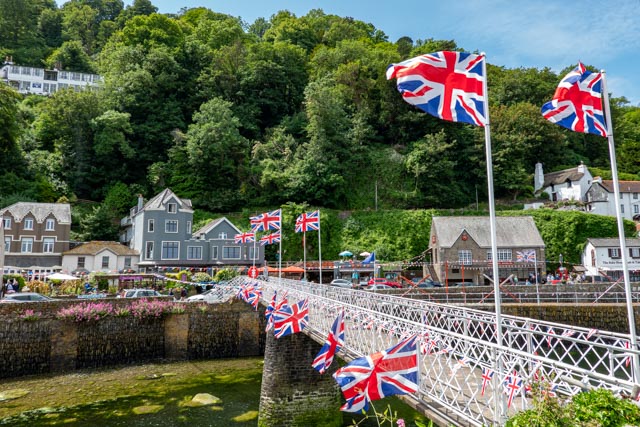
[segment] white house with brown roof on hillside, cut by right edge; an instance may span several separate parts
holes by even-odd
[[[640,220],[640,181],[618,181],[620,213],[623,218]],[[587,212],[616,216],[616,202],[612,180],[595,178],[587,191]]]

